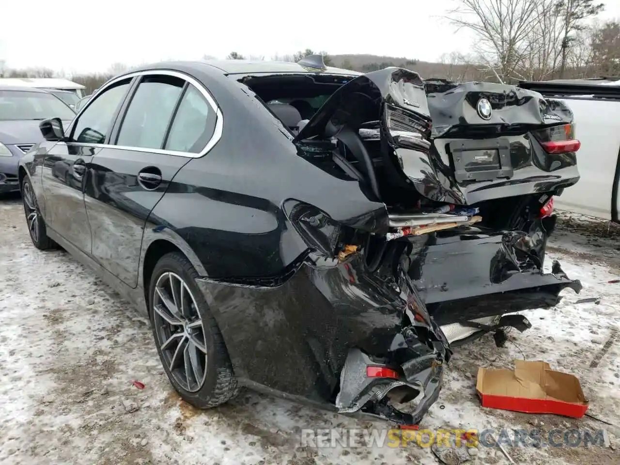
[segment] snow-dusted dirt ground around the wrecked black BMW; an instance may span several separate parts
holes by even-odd
[[[433,464],[428,448],[301,446],[301,428],[381,428],[386,424],[315,410],[242,392],[218,409],[180,401],[161,369],[148,321],[89,270],[61,251],[30,244],[19,198],[0,202],[0,462],[17,464]],[[453,357],[438,402],[423,427],[618,428],[588,417],[526,415],[480,408],[479,366],[512,368],[515,358],[546,360],[574,373],[590,412],[620,425],[620,228],[563,215],[548,252],[582,280],[552,311],[532,311],[533,328],[510,333],[498,349],[491,337]],[[600,297],[600,304],[577,304]],[[611,347],[603,346],[612,339]],[[593,361],[598,360],[597,363]],[[594,368],[591,368],[594,367]],[[146,385],[139,390],[131,384]],[[610,434],[612,445],[617,441]],[[620,446],[620,444],[618,445]],[[511,448],[516,463],[620,463],[618,449]],[[507,463],[480,448],[471,463]]]

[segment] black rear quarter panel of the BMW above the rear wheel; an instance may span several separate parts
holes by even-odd
[[[303,201],[345,222],[383,211],[353,180],[328,174],[299,156],[292,135],[233,78],[195,77],[223,113],[215,147],[175,175],[151,213],[197,254],[209,277],[275,277],[306,249],[283,212]]]

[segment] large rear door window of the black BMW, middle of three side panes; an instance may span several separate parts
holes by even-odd
[[[185,81],[172,76],[146,76],[123,118],[117,145],[161,149]]]

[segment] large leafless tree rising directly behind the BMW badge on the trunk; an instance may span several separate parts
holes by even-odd
[[[520,63],[528,53],[528,37],[538,24],[544,0],[461,0],[448,13],[459,29],[477,35],[476,51],[500,81],[521,78]]]

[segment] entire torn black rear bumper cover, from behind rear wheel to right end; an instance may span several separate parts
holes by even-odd
[[[327,268],[306,261],[260,285],[197,283],[241,384],[417,424],[440,395],[451,356],[440,325],[552,306],[562,289],[580,290],[559,263],[542,273],[545,236],[537,234],[446,232],[424,238],[409,267],[386,265],[383,274],[353,255]],[[368,366],[392,374],[368,376]],[[407,413],[387,402],[397,388],[409,389],[409,400],[419,394]]]

